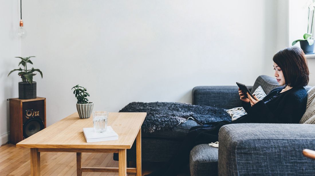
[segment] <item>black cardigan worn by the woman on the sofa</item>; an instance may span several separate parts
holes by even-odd
[[[243,102],[248,113],[232,123],[299,123],[306,110],[307,91],[303,87],[292,88],[264,103],[280,92],[278,87],[254,106]]]

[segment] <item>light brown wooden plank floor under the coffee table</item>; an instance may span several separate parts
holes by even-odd
[[[76,153],[41,152],[41,175],[76,175]],[[118,167],[112,153],[83,153],[83,167]],[[151,173],[156,164],[142,163],[142,175]],[[6,144],[0,147],[0,176],[2,175],[30,175],[30,149],[16,148],[15,145]],[[82,175],[114,176],[118,173],[86,173]],[[134,176],[135,173],[129,173]],[[187,176],[189,172],[179,176]]]

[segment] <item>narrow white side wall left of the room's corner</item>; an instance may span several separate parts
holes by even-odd
[[[9,135],[9,102],[8,98],[18,97],[17,73],[7,75],[18,68],[20,55],[19,41],[14,30],[18,28],[18,1],[5,0],[0,5],[0,145],[8,141]]]

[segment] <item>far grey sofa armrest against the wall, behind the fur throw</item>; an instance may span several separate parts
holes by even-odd
[[[252,86],[248,86],[251,91]],[[225,109],[241,107],[238,86],[197,86],[192,89],[192,104]]]

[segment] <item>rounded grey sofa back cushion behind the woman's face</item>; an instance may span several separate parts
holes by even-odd
[[[267,75],[258,76],[250,92],[254,93],[258,86],[261,86],[266,94],[268,94],[274,88],[281,87],[281,85],[278,84],[276,78]],[[307,85],[304,88],[306,91],[309,91],[312,86]]]

